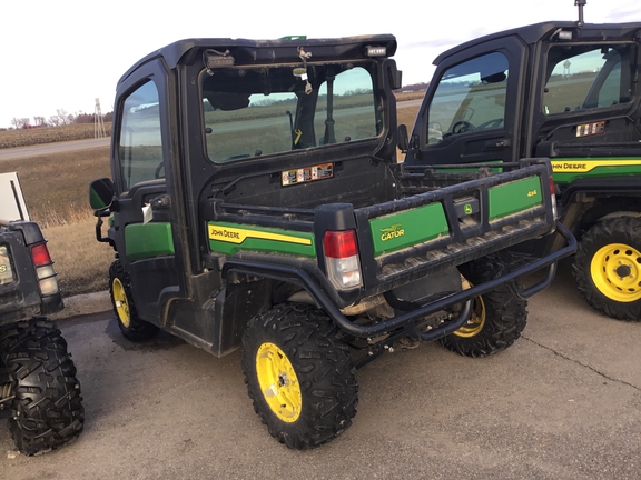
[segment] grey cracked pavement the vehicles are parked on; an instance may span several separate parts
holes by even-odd
[[[0,422],[0,478],[638,480],[641,323],[592,311],[569,268],[530,301],[523,337],[503,353],[426,344],[359,370],[353,427],[308,452],[260,424],[238,352],[216,359],[165,334],[132,344],[110,314],[61,320],[85,432],[16,457]]]

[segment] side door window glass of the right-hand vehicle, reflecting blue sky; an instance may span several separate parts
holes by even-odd
[[[427,144],[474,130],[503,128],[507,58],[492,52],[447,69],[428,111]]]

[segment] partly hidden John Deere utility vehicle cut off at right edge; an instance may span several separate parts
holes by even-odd
[[[455,47],[434,61],[405,158],[497,168],[550,158],[561,221],[580,240],[578,287],[624,320],[641,319],[640,42],[641,23],[584,23],[581,10],[578,22]]]

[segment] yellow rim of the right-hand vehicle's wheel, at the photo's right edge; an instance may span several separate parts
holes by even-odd
[[[625,243],[599,249],[590,262],[594,286],[610,300],[633,302],[641,299],[641,252]]]

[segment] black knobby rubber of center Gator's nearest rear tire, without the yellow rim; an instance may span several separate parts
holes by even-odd
[[[264,342],[277,344],[298,377],[303,408],[294,423],[279,420],[260,392],[256,351]],[[254,410],[269,433],[292,449],[332,440],[356,414],[358,383],[348,347],[331,319],[312,306],[280,304],[252,319],[243,337],[243,371]]]

